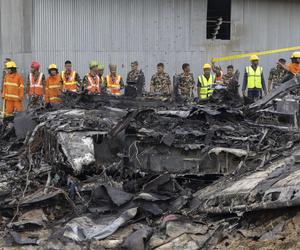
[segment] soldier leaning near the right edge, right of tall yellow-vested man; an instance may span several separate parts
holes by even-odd
[[[287,75],[288,72],[284,68],[285,64],[286,60],[281,58],[278,60],[276,68],[271,69],[268,79],[268,92],[271,92],[272,89],[278,87]]]

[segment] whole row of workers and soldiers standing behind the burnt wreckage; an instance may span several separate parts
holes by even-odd
[[[12,116],[14,112],[23,111],[23,101],[28,97],[28,107],[34,108],[42,104],[55,106],[61,103],[62,92],[81,92],[88,94],[107,93],[113,96],[120,96],[124,93],[125,86],[135,88],[138,95],[144,91],[145,76],[139,69],[138,62],[131,63],[131,71],[127,74],[126,82],[117,72],[117,66],[110,64],[109,73],[104,76],[104,66],[97,61],[89,63],[89,72],[81,80],[79,74],[72,68],[72,62],[65,62],[65,69],[59,72],[56,64],[48,67],[48,76],[40,72],[40,64],[36,61],[31,64],[31,72],[28,75],[26,85],[20,73],[17,72],[17,65],[10,58],[4,62],[2,98],[3,114],[5,117]],[[198,100],[207,100],[218,85],[238,85],[239,72],[234,70],[232,65],[227,67],[224,73],[220,66],[208,63],[203,65],[203,74],[195,81],[191,73],[190,65],[182,65],[183,72],[174,76],[174,84],[171,84],[170,75],[165,72],[164,64],[157,64],[157,72],[150,81],[150,93],[160,96],[171,96],[172,92],[182,98],[194,100],[197,90]],[[286,64],[285,59],[279,59],[277,66],[272,68],[265,82],[263,68],[259,65],[259,58],[256,55],[250,57],[250,65],[245,68],[242,93],[248,96],[251,101],[256,101],[272,89],[278,87],[282,82],[300,74],[300,52],[294,52],[291,56],[291,63]],[[195,91],[196,92],[196,91]]]

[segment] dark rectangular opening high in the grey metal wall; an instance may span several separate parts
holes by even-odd
[[[230,40],[231,0],[208,0],[206,38]]]

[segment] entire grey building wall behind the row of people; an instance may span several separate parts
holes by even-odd
[[[206,39],[207,0],[0,0],[1,56],[21,71],[70,59],[81,75],[88,62],[116,63],[122,75],[138,60],[149,82],[158,62],[173,75],[184,62],[195,75],[211,57],[299,45],[298,0],[232,0],[230,41]],[[279,57],[262,56],[266,75]],[[247,59],[234,64],[243,71]],[[106,71],[107,72],[107,71]]]

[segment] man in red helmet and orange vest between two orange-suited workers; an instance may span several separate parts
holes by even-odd
[[[29,97],[29,108],[39,107],[43,104],[45,92],[45,75],[40,72],[40,64],[31,63],[31,73],[28,76],[27,94]]]

